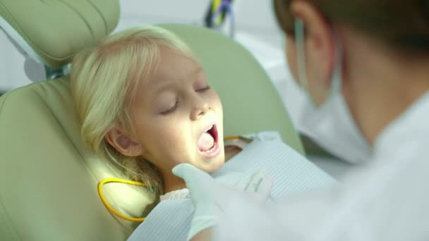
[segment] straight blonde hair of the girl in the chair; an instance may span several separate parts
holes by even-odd
[[[157,168],[142,157],[127,157],[104,139],[116,125],[134,135],[129,107],[135,89],[156,71],[159,47],[193,56],[176,35],[160,27],[133,27],[102,40],[75,55],[71,66],[71,93],[81,121],[85,146],[116,163],[116,168],[133,180],[147,183],[162,193]]]

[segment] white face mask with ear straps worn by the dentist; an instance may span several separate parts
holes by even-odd
[[[304,26],[302,20],[295,22],[298,79],[305,92],[308,92],[304,51]],[[361,135],[341,92],[342,47],[337,41],[337,57],[331,79],[331,93],[322,106],[313,103],[307,93],[298,129],[308,135],[320,147],[344,161],[361,163],[370,158],[372,147]]]

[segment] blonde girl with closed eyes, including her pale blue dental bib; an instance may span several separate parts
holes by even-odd
[[[191,50],[167,30],[132,28],[80,52],[72,63],[71,92],[87,147],[109,157],[125,178],[146,183],[156,197],[161,196],[162,202],[155,202],[131,240],[163,240],[165,235],[164,240],[184,239],[193,206],[185,198],[189,193],[183,180],[171,172],[179,163],[191,163],[207,173],[217,171],[213,176],[219,183],[267,199],[332,183],[329,175],[286,147],[281,138],[278,142],[255,138],[224,165],[250,140],[224,142],[217,93]],[[98,161],[108,165],[105,159]],[[284,171],[279,172],[281,168]],[[291,187],[294,183],[299,185]],[[115,198],[120,195],[114,192]],[[123,202],[129,199],[127,193]],[[139,211],[124,213],[142,216]]]

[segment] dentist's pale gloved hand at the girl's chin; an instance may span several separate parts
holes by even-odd
[[[195,206],[188,240],[216,225],[217,214],[228,214],[234,208],[229,205],[231,198],[245,198],[246,202],[265,204],[271,193],[272,179],[267,171],[258,170],[249,178],[241,179],[236,183],[236,188],[215,182],[208,173],[188,163],[175,166],[173,173],[185,180]]]

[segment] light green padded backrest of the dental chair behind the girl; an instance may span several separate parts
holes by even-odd
[[[4,13],[1,7],[17,2],[23,1],[0,0],[0,14]],[[71,7],[84,1],[58,2]],[[95,6],[110,2],[116,10],[106,12],[119,11],[114,1],[90,2]],[[85,13],[90,12],[86,8],[93,7],[79,9]],[[52,10],[57,13],[63,8],[59,4]],[[77,24],[92,24],[86,22],[79,20]],[[68,25],[72,25],[70,32],[66,31],[68,37],[80,39],[71,34],[78,28],[74,22]],[[37,30],[37,26],[33,27]],[[276,89],[246,49],[212,30],[186,25],[162,27],[184,39],[203,64],[210,84],[222,99],[225,135],[277,130],[284,142],[303,151]],[[57,46],[64,44],[62,36],[58,42],[54,39],[52,43]],[[96,39],[86,44],[92,41]],[[65,44],[70,42],[73,41]],[[84,43],[80,45],[83,46]],[[71,49],[70,56],[78,49]],[[59,61],[66,64],[70,56]],[[131,234],[137,223],[119,221],[99,199],[97,183],[109,177],[108,165],[103,165],[109,161],[95,156],[80,142],[67,77],[37,82],[1,96],[0,133],[0,240],[126,240]],[[110,191],[109,198],[116,209],[133,213],[151,202],[145,193],[138,199],[128,198],[125,187]]]

